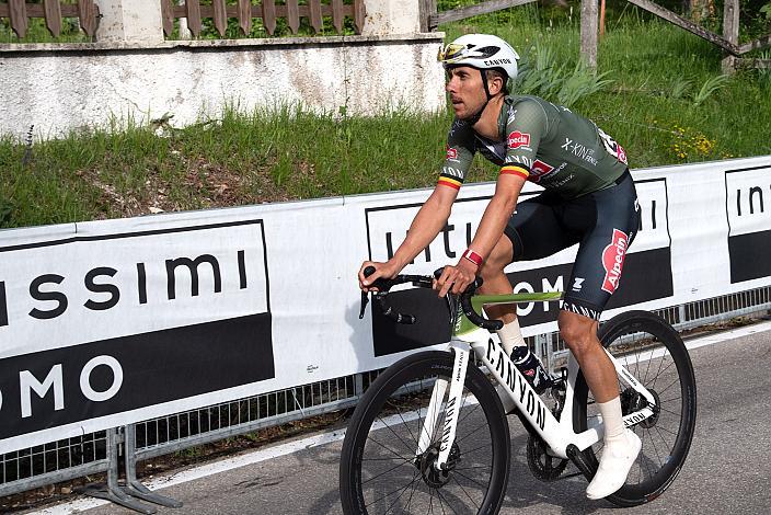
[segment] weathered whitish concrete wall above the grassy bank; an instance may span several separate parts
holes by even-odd
[[[375,114],[445,108],[436,61],[441,34],[324,38],[0,45],[0,134],[60,136],[111,118],[169,113],[183,126],[301,102],[317,111]]]

